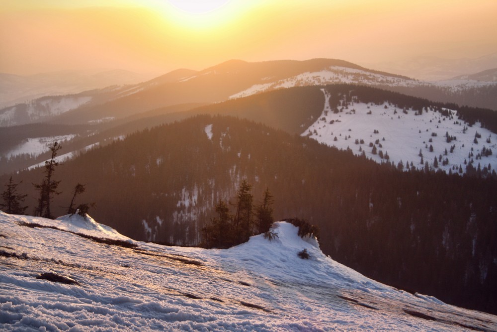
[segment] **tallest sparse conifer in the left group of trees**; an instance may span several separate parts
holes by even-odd
[[[60,192],[57,191],[60,181],[52,180],[55,167],[59,166],[57,161],[57,153],[62,148],[58,142],[54,142],[53,145],[49,147],[52,152],[52,156],[49,160],[45,161],[45,178],[41,184],[34,184],[36,190],[40,192],[40,197],[38,199],[38,208],[35,210],[35,216],[41,216],[44,218],[53,219],[54,217],[50,211],[50,203],[52,202],[53,195],[59,195]]]

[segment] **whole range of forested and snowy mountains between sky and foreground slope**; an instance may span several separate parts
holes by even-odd
[[[277,219],[320,226],[340,263],[494,313],[496,112],[392,91],[425,88],[339,60],[237,60],[46,97],[45,113],[31,103],[12,117],[46,122],[0,129],[0,182],[22,181],[32,210],[40,150],[57,140],[55,213],[82,183],[91,214],[125,236],[198,245],[246,179],[255,200],[271,191]]]

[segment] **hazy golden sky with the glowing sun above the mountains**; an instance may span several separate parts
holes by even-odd
[[[497,0],[0,0],[0,72],[477,58],[496,17]]]

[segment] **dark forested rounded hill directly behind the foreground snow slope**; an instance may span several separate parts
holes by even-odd
[[[62,151],[63,152],[63,151]],[[15,175],[29,211],[42,170]],[[71,192],[97,220],[142,240],[195,245],[219,199],[240,182],[266,188],[274,217],[321,228],[325,253],[373,277],[461,306],[496,312],[497,182],[401,172],[284,131],[224,116],[196,116],[138,132],[59,166],[65,213]],[[7,177],[0,178],[6,183]]]

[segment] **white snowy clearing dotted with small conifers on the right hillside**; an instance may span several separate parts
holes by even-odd
[[[381,151],[388,154],[388,161],[396,166],[402,161],[404,170],[408,169],[407,162],[410,168],[424,169],[428,162],[429,167],[435,169],[435,158],[436,169],[447,173],[459,173],[460,169],[466,172],[470,162],[475,169],[479,164],[481,169],[488,168],[489,164],[490,171],[497,168],[497,135],[481,128],[479,123],[470,126],[459,120],[457,111],[446,110],[447,116],[429,109],[418,114],[389,104],[352,102],[335,113],[330,108],[330,94],[325,89],[322,91],[326,98],[323,113],[302,135],[339,149],[350,148],[356,155],[364,153],[376,162],[387,162],[380,157]],[[477,137],[478,143],[475,143],[477,133],[481,137]],[[447,134],[455,139],[448,142]],[[376,154],[372,153],[371,143],[376,147]],[[493,154],[482,154],[484,147]]]

